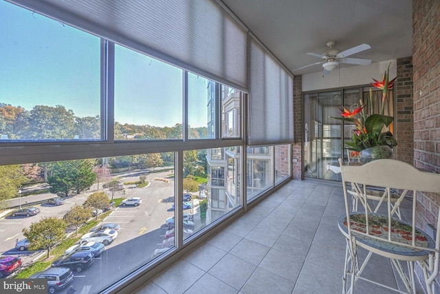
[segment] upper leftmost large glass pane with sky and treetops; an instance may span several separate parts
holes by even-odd
[[[0,140],[101,140],[100,39],[0,3]]]

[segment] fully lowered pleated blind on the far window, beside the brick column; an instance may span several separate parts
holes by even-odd
[[[294,142],[294,83],[272,55],[250,40],[248,145]]]

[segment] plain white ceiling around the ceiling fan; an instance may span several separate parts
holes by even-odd
[[[373,62],[412,56],[412,0],[221,1],[291,71],[322,61],[306,53],[326,52],[328,41],[341,51],[367,43],[371,49],[350,57]]]

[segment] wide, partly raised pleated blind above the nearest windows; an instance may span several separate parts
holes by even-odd
[[[214,1],[10,1],[214,81],[248,90],[247,32]]]

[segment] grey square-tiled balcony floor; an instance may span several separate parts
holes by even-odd
[[[345,240],[336,223],[343,213],[341,185],[292,180],[135,294],[342,293]],[[396,285],[391,264],[378,256],[364,276]],[[364,281],[355,289],[396,293]]]

